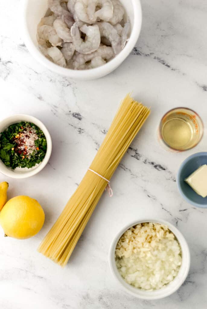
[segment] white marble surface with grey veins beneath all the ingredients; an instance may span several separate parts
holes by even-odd
[[[9,198],[34,197],[46,214],[43,229],[32,239],[1,234],[1,309],[206,308],[207,211],[186,203],[175,182],[180,163],[206,150],[206,130],[196,148],[182,153],[163,150],[156,137],[160,118],[177,106],[195,109],[206,126],[206,1],[142,0],[142,32],[133,52],[112,74],[89,82],[58,76],[32,58],[21,37],[19,4],[0,2],[0,118],[36,116],[51,133],[53,152],[36,176],[14,180],[0,175],[0,182],[9,182]],[[129,91],[151,106],[150,118],[112,178],[114,197],[103,194],[70,263],[61,269],[36,248],[77,188]],[[108,266],[113,237],[144,216],[176,225],[192,257],[183,286],[157,301],[125,295]]]

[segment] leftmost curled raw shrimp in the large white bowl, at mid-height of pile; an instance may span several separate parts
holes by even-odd
[[[40,45],[47,45],[49,41],[52,46],[61,46],[62,39],[57,35],[55,29],[51,26],[41,26],[37,32],[37,41]]]

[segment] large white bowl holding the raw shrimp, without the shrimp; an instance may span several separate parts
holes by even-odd
[[[95,69],[90,70],[70,70],[57,66],[49,61],[38,49],[36,40],[37,25],[45,15],[48,8],[48,0],[22,0],[21,11],[23,12],[23,39],[33,55],[43,66],[49,70],[65,75],[69,78],[80,80],[96,79],[105,76],[115,70],[129,55],[136,44],[142,24],[142,9],[139,0],[120,0],[125,7],[126,14],[130,18],[132,25],[131,35],[125,48],[111,61]]]

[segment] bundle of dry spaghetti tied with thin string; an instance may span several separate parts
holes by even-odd
[[[90,169],[40,244],[38,251],[65,266],[116,167],[142,127],[150,109],[128,94]]]

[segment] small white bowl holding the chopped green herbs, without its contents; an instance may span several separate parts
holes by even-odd
[[[33,176],[39,173],[48,163],[51,152],[52,152],[52,140],[48,132],[48,129],[45,127],[45,125],[43,125],[43,123],[40,120],[38,120],[37,118],[33,116],[29,116],[25,114],[12,115],[0,121],[0,132],[3,132],[10,125],[14,123],[18,123],[20,121],[32,122],[43,131],[46,137],[46,140],[47,140],[47,151],[46,151],[45,157],[42,160],[42,162],[37,167],[28,168],[28,171],[25,171],[25,170],[21,171],[21,169],[12,170],[11,168],[6,167],[6,165],[0,159],[0,172],[8,177],[18,178],[18,179],[27,178],[27,177],[30,177],[30,176]]]

